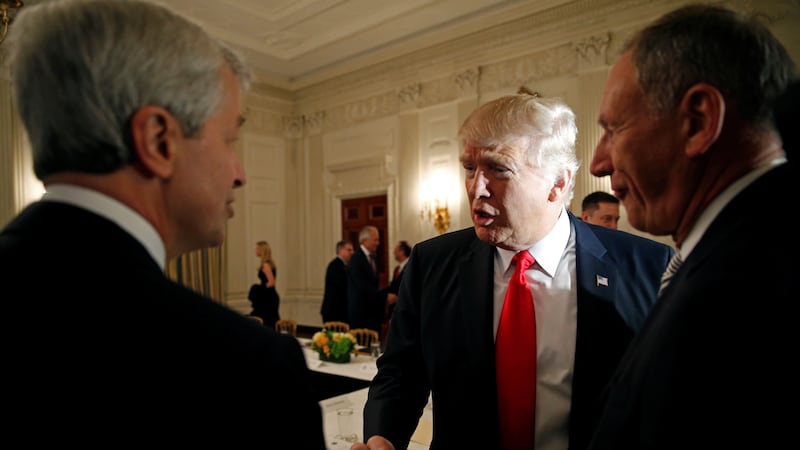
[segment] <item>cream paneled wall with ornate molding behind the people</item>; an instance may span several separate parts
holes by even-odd
[[[319,325],[325,267],[341,235],[341,199],[386,193],[386,242],[434,236],[419,219],[421,183],[439,169],[455,170],[463,195],[458,125],[478,104],[522,85],[561,96],[576,112],[583,161],[571,208],[577,212],[584,195],[608,190],[608,180],[592,177],[586,164],[600,136],[596,109],[609,65],[627,36],[685,3],[579,0],[294,92],[257,83],[247,98],[239,148],[249,181],[237,192],[225,244],[227,302],[249,310],[253,248],[265,239],[279,266],[281,315]],[[800,60],[800,4],[722,3],[766,13]],[[6,187],[0,219],[6,220],[39,194],[7,84],[0,77],[0,185]],[[451,229],[471,224],[463,196],[452,208]],[[624,208],[622,215],[620,228],[638,233]]]

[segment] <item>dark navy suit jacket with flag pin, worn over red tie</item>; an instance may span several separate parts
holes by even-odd
[[[655,301],[673,251],[572,214],[570,221],[578,317],[569,439],[570,448],[581,449],[599,413],[600,393]],[[432,389],[431,450],[497,447],[494,254],[473,228],[414,246],[364,410],[366,439],[379,434],[405,448]]]

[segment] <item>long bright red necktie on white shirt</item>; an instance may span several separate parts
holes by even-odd
[[[536,410],[536,313],[525,270],[535,262],[527,251],[514,255],[497,327],[497,411],[505,450],[533,448]]]

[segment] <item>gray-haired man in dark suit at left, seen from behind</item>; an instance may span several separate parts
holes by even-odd
[[[324,449],[297,340],[164,274],[224,240],[242,60],[137,1],[26,6],[5,45],[47,189],[0,232],[5,438]]]

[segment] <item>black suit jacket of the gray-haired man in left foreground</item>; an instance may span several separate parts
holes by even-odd
[[[325,448],[297,340],[170,281],[111,221],[34,203],[0,277],[6,436]]]

